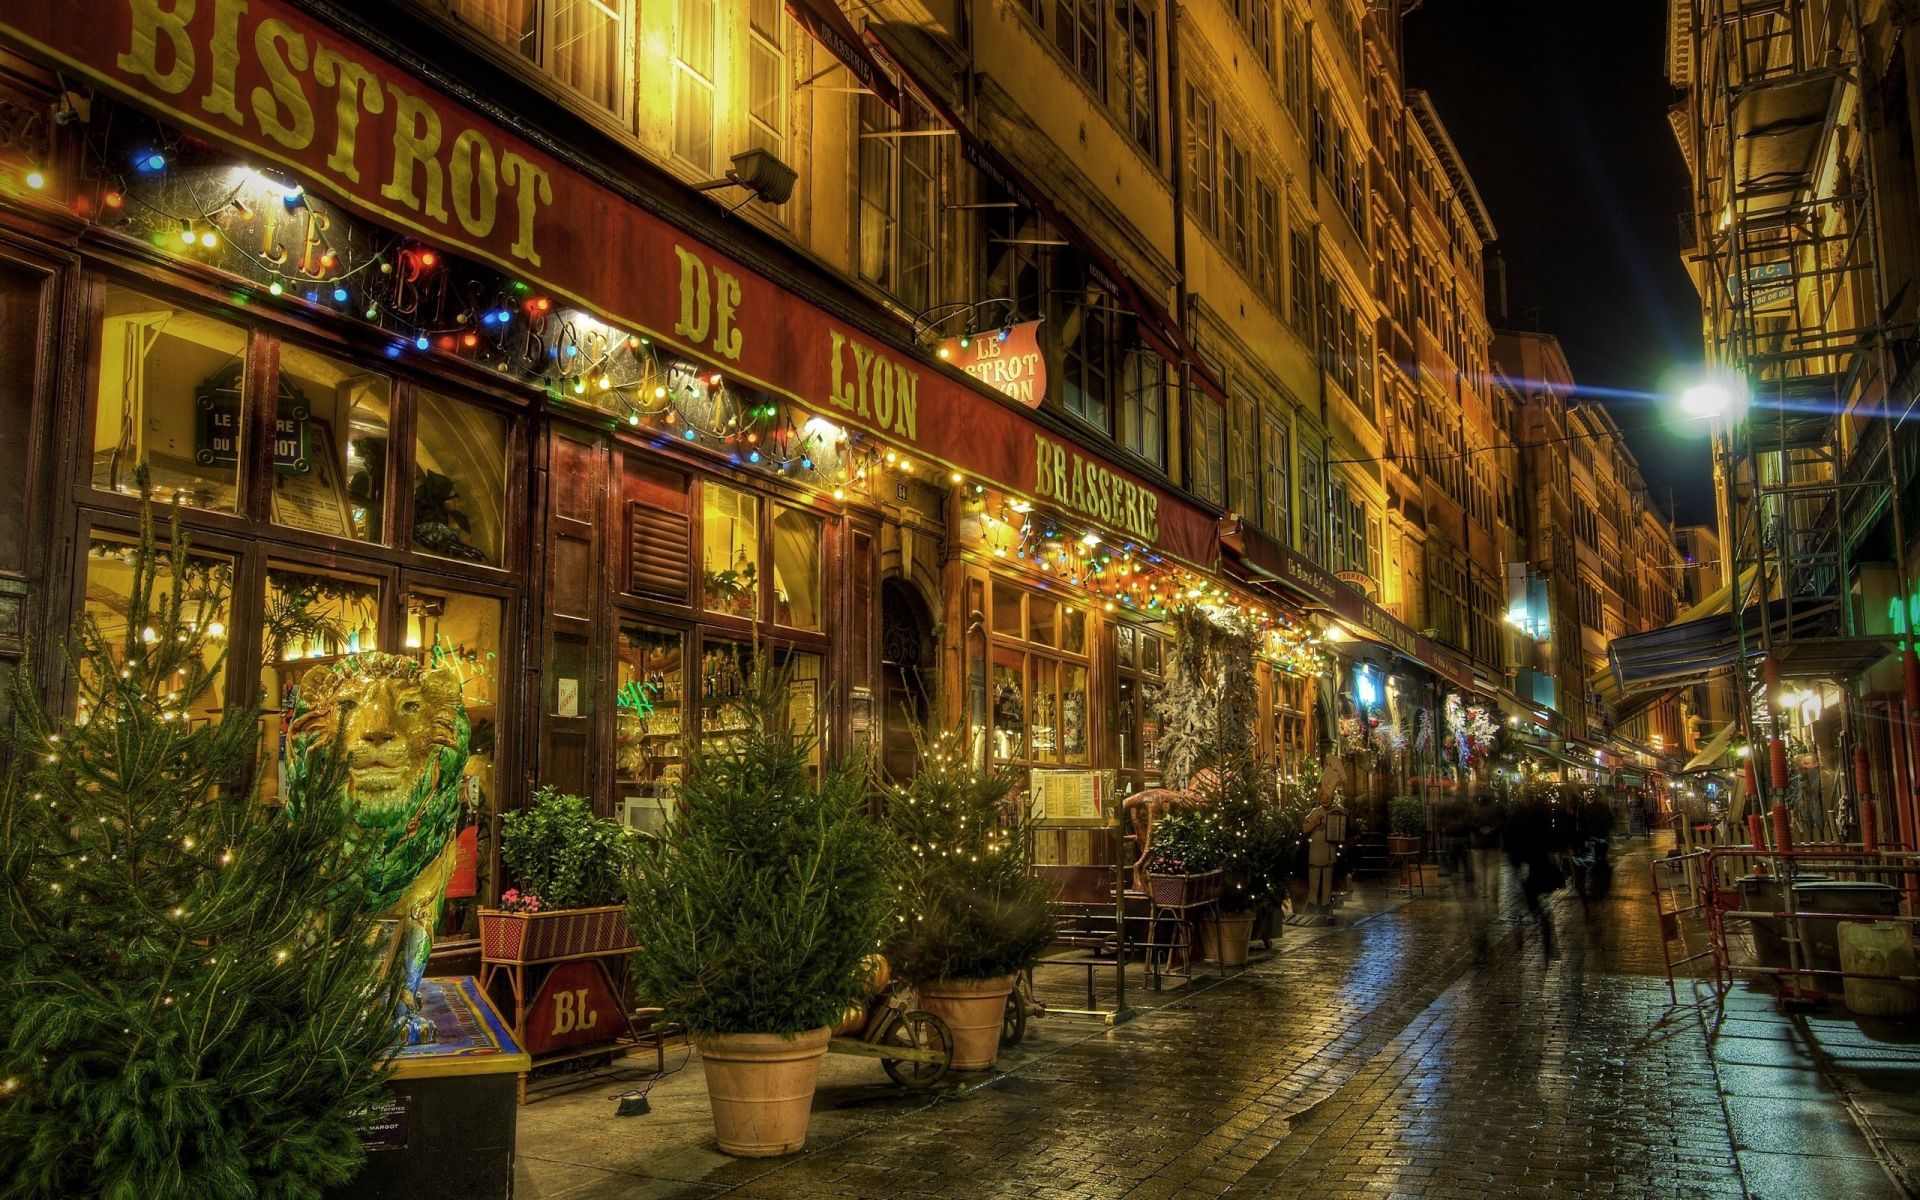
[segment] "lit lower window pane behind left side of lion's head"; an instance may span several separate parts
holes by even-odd
[[[317,566],[275,563],[267,566],[267,609],[261,616],[261,718],[263,749],[273,770],[261,772],[263,801],[276,801],[286,785],[286,726],[307,672],[334,666],[348,655],[380,647],[380,584]],[[348,741],[348,755],[361,762],[349,785],[361,793],[390,789],[390,770],[371,762],[372,747]],[[409,780],[411,785],[411,780]]]

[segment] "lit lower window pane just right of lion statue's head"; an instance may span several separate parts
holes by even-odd
[[[467,772],[461,780],[461,824],[455,837],[461,862],[447,885],[440,933],[472,937],[474,910],[488,895],[490,854],[482,833],[493,828],[499,778],[499,626],[501,603],[488,595],[415,589],[407,595],[407,651],[432,668],[451,672],[467,705]],[[470,858],[468,858],[470,854]]]

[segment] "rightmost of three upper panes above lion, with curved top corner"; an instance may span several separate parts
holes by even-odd
[[[413,549],[499,566],[507,524],[507,419],[420,392],[413,459]]]

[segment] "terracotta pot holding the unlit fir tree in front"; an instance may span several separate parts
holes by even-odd
[[[806,1144],[806,1117],[828,1052],[828,1027],[780,1033],[695,1033],[707,1069],[714,1139],[735,1158],[774,1158]]]

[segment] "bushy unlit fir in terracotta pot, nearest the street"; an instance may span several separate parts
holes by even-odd
[[[756,664],[739,733],[689,756],[680,804],[634,856],[628,920],[639,991],[693,1035],[720,1148],[806,1144],[828,1031],[862,991],[891,920],[891,839],[868,818],[868,768],[828,762],[787,728],[787,676]]]

